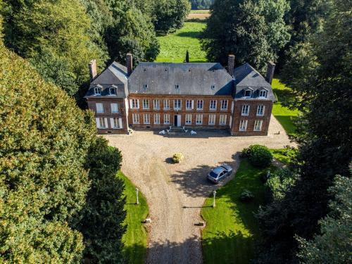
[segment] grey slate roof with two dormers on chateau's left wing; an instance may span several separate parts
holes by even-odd
[[[98,84],[102,87],[101,96],[94,95],[94,87],[96,87]],[[84,98],[111,98],[111,96],[108,94],[108,88],[112,87],[112,85],[118,87],[117,96],[114,97],[125,98],[128,96],[127,68],[115,61],[93,80]]]

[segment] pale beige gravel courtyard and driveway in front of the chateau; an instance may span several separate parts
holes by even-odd
[[[152,222],[146,263],[202,263],[201,230],[194,224],[202,221],[206,197],[221,186],[206,181],[210,168],[225,162],[237,170],[238,151],[251,144],[272,149],[292,145],[273,116],[268,137],[231,137],[222,131],[183,137],[137,131],[105,137],[122,151],[122,171],[149,203]],[[170,157],[177,152],[184,154],[184,161],[172,164]]]

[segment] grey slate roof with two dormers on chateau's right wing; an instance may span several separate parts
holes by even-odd
[[[236,87],[234,92],[234,99],[246,100],[271,100],[275,101],[274,92],[272,92],[271,85],[265,78],[256,71],[249,63],[245,63],[234,69],[234,85]],[[246,89],[252,89],[253,94],[251,98],[244,96]],[[268,96],[265,99],[258,98],[260,89],[266,89]]]

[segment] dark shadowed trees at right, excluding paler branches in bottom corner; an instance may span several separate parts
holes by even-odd
[[[258,263],[296,263],[296,235],[312,239],[329,212],[327,189],[348,176],[351,161],[351,2],[332,1],[332,13],[299,47],[284,82],[294,89],[299,118],[298,180],[284,199],[260,212],[264,243]],[[287,71],[289,72],[289,71]],[[318,262],[318,260],[317,260]]]

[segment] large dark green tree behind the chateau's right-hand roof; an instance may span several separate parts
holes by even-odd
[[[288,8],[286,0],[215,1],[201,40],[208,61],[225,65],[227,55],[235,54],[236,63],[248,62],[263,71],[289,41],[284,23]]]

